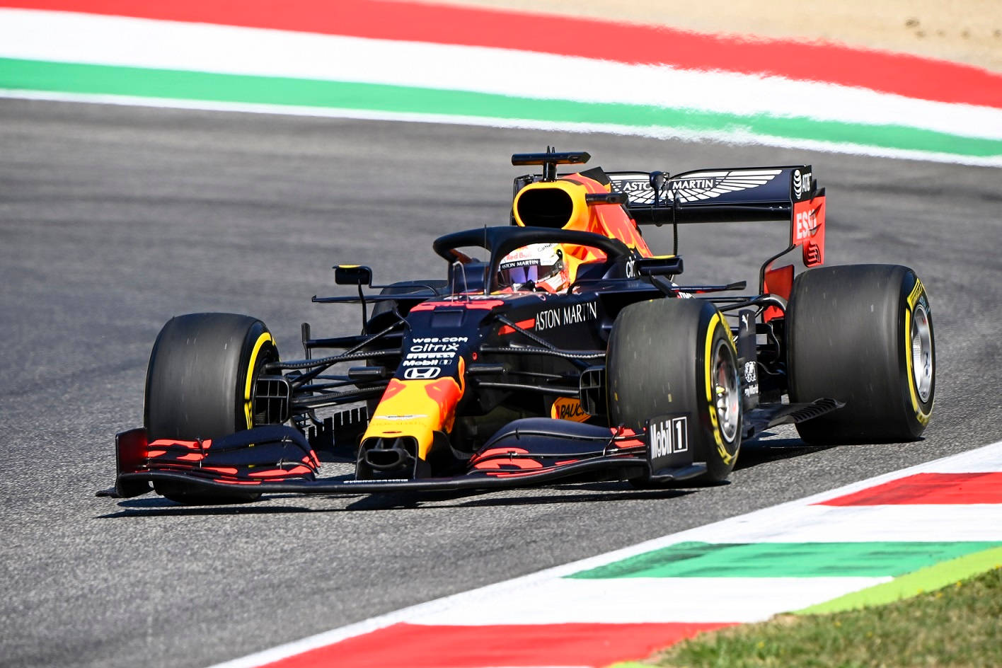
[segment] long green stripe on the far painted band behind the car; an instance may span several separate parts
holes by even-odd
[[[865,125],[765,114],[509,97],[370,83],[57,63],[0,58],[0,88],[212,102],[311,106],[730,132],[972,157],[1002,157],[1002,140],[904,125]]]

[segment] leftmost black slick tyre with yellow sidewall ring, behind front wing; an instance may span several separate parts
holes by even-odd
[[[147,439],[220,439],[255,426],[255,382],[264,366],[279,361],[265,323],[234,313],[172,317],[160,329],[146,370],[143,422]],[[180,503],[228,503],[255,494],[185,492],[154,485]]]

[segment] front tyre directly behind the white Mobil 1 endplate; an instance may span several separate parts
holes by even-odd
[[[640,429],[668,413],[689,416],[689,447],[706,463],[699,482],[726,479],[741,441],[737,354],[716,307],[653,299],[616,317],[606,360],[609,420]]]

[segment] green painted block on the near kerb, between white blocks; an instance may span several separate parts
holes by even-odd
[[[567,577],[591,580],[898,576],[997,546],[1002,543],[678,543]]]

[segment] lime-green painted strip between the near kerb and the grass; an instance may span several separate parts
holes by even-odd
[[[925,592],[942,589],[966,578],[996,568],[1002,568],[1002,548],[976,552],[940,564],[927,566],[914,573],[895,578],[891,582],[870,587],[863,591],[853,592],[852,594],[846,594],[837,599],[798,610],[794,614],[823,615],[844,612],[846,610],[857,610],[867,606],[886,605],[900,601],[901,599],[918,596]]]

